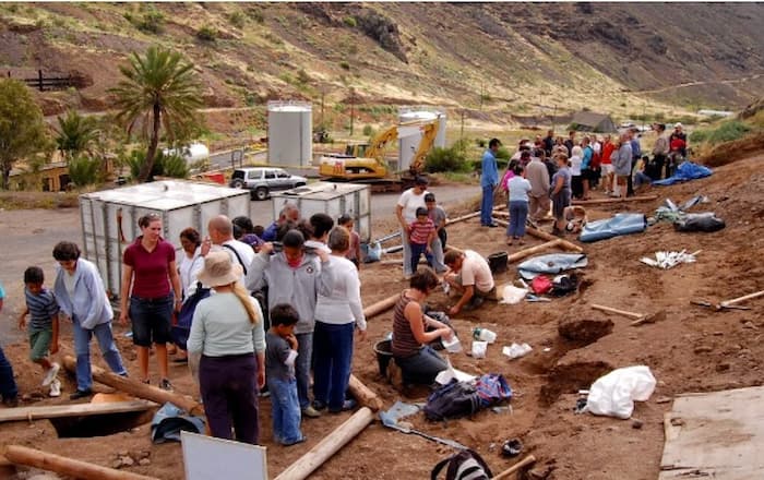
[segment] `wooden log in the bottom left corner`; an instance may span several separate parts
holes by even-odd
[[[5,457],[16,465],[26,465],[83,480],[156,480],[155,477],[115,470],[21,445],[8,445]]]

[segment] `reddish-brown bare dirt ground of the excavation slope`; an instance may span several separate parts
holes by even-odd
[[[750,302],[750,311],[712,312],[690,304],[694,298],[712,301],[739,297],[764,288],[764,155],[749,157],[718,168],[706,179],[657,188],[660,200],[589,209],[590,218],[601,218],[619,211],[650,215],[662,199],[683,202],[695,194],[705,194],[711,203],[693,212],[714,211],[727,227],[714,233],[676,232],[668,224],[649,227],[644,233],[585,244],[589,265],[584,269],[587,288],[577,295],[556,299],[551,303],[501,305],[488,303],[481,310],[457,315],[455,325],[464,344],[469,329],[485,326],[498,334],[488,357],[476,360],[464,353],[451,356],[461,370],[476,374],[502,373],[515,396],[512,412],[484,410],[473,418],[431,423],[421,415],[413,423],[427,433],[456,440],[478,451],[499,472],[512,465],[500,456],[501,444],[520,437],[525,454],[538,461],[525,478],[533,479],[655,479],[659,472],[664,445],[664,413],[671,403],[657,403],[687,392],[708,392],[761,385],[764,380],[762,359],[764,345],[760,329],[764,327],[764,300]],[[455,216],[455,212],[451,213]],[[390,219],[375,225],[378,233],[392,231]],[[450,243],[488,255],[505,250],[503,229],[486,229],[477,218],[449,227]],[[528,238],[525,247],[541,241]],[[658,250],[702,250],[697,262],[670,271],[650,268],[638,262]],[[511,252],[520,250],[518,247]],[[393,265],[363,265],[361,269],[365,304],[383,299],[404,288],[401,268]],[[511,266],[498,277],[498,284],[515,278]],[[435,293],[430,303],[445,307],[447,299]],[[558,322],[564,319],[605,319],[590,309],[602,303],[637,312],[664,311],[664,320],[638,327],[629,326],[629,319],[608,316],[614,323],[611,334],[582,346],[558,335]],[[369,322],[369,339],[357,345],[355,374],[375,391],[390,407],[401,395],[378,373],[372,345],[391,329],[391,313]],[[123,336],[116,336],[131,372],[136,371],[135,356]],[[517,360],[501,355],[501,346],[527,341],[534,350]],[[62,346],[71,352],[71,337],[64,328]],[[548,348],[548,351],[545,349]],[[5,349],[16,368],[20,387],[33,396],[25,405],[65,404],[67,397],[44,398],[40,373],[26,361],[27,347],[13,345]],[[95,361],[103,364],[99,356]],[[648,365],[658,385],[650,399],[637,404],[634,418],[644,422],[641,429],[632,421],[575,415],[576,392],[588,388],[602,373],[619,367]],[[172,368],[178,391],[195,389],[183,368]],[[74,388],[72,379],[64,383],[64,395]],[[106,391],[106,388],[104,388]],[[417,391],[407,401],[423,401],[427,392]],[[275,477],[322,437],[349,417],[349,413],[325,416],[303,421],[306,444],[289,448],[271,441],[268,400],[261,403],[262,442],[268,447],[268,471]],[[138,457],[151,452],[151,465],[128,468],[129,471],[162,479],[183,478],[179,444],[151,445],[150,427],[93,439],[58,439],[47,420],[0,424],[0,445],[22,444],[99,465],[110,466],[118,452]],[[719,439],[724,441],[724,439]],[[374,422],[353,442],[323,465],[314,479],[411,479],[427,478],[432,466],[452,451],[425,439],[391,431]]]

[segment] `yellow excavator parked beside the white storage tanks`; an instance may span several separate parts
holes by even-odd
[[[319,173],[329,181],[356,181],[366,183],[395,182],[413,180],[421,173],[427,154],[432,148],[438,135],[439,118],[432,120],[415,120],[402,122],[377,134],[371,142],[348,144],[345,154],[331,154],[321,157]],[[401,179],[391,178],[384,151],[398,137],[405,137],[421,132],[421,140],[411,158],[408,171]]]

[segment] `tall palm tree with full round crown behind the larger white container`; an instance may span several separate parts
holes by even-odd
[[[152,46],[141,57],[133,52],[130,64],[120,67],[124,79],[109,92],[116,97],[117,121],[131,133],[141,124],[148,139],[146,158],[139,181],[146,181],[156,160],[159,131],[178,141],[188,139],[201,124],[196,109],[202,106],[201,91],[193,64],[177,51]]]

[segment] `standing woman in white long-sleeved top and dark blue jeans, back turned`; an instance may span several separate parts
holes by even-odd
[[[345,399],[345,392],[350,380],[354,332],[357,328],[359,339],[366,338],[366,317],[358,269],[345,257],[350,233],[345,227],[335,227],[327,244],[332,249],[329,263],[334,285],[329,296],[319,295],[315,305],[313,408],[339,412],[355,406]]]

